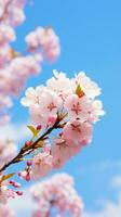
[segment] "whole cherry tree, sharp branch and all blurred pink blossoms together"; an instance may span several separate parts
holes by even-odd
[[[13,105],[14,97],[21,93],[27,78],[38,75],[43,62],[53,62],[60,53],[59,39],[52,27],[37,27],[29,33],[25,37],[26,52],[22,53],[12,48],[12,42],[16,40],[16,26],[25,21],[25,3],[24,0],[0,0],[1,127],[10,120],[8,108]],[[27,127],[31,131],[31,138],[25,141],[18,151],[14,141],[0,138],[0,207],[4,212],[0,215],[4,216],[6,213],[8,217],[14,216],[3,204],[10,197],[23,195],[19,190],[22,179],[30,181],[45,177],[91,143],[93,125],[105,114],[102,101],[97,99],[99,94],[100,88],[84,72],[76,73],[69,78],[63,72],[53,71],[53,76],[45,85],[29,87],[25,91],[21,103],[28,108],[30,125]],[[14,169],[13,173],[6,170],[12,170],[12,166],[17,164],[18,173]],[[16,181],[18,179],[19,182]],[[67,184],[59,192],[57,188],[63,187],[63,180]],[[36,197],[36,201],[39,204],[48,203],[48,213],[56,206],[58,213],[69,210],[73,212],[75,217],[80,215],[82,203],[72,189],[70,177],[55,175],[39,187],[43,201],[41,202],[40,197]],[[45,201],[43,187],[49,190],[51,188],[49,196],[53,196],[54,191],[56,196],[64,195],[65,203],[58,202],[58,199],[54,199],[54,203]],[[38,187],[31,190],[33,197],[36,188]],[[66,190],[71,192],[70,200]],[[76,204],[72,206],[73,199]],[[35,217],[40,215],[39,209],[33,214]]]

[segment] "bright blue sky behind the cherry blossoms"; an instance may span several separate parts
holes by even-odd
[[[58,61],[44,64],[41,75],[30,78],[26,88],[45,82],[56,68],[70,77],[82,69],[103,89],[106,116],[94,126],[91,145],[62,169],[75,177],[85,208],[96,210],[98,200],[117,201],[110,180],[121,174],[121,1],[33,0],[26,15],[25,24],[17,28],[16,49],[24,50],[24,37],[36,26],[53,26],[62,44]],[[11,113],[14,123],[28,119],[18,99]]]

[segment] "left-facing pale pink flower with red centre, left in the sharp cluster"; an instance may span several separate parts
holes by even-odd
[[[35,98],[36,97],[36,98]],[[38,102],[35,104],[35,100]],[[28,101],[29,100],[29,101]],[[57,111],[62,106],[62,99],[55,94],[53,91],[44,90],[43,92],[33,95],[32,102],[30,98],[24,99],[25,104],[30,103],[29,112],[33,124],[41,124],[43,127],[52,126],[57,117]]]

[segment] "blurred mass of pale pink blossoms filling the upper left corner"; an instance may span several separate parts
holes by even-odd
[[[41,71],[44,59],[55,61],[60,51],[54,30],[42,27],[28,34],[25,53],[12,48],[15,27],[25,21],[24,8],[25,0],[0,1],[0,125],[10,119],[6,110],[12,106],[11,98],[21,92],[26,79]]]

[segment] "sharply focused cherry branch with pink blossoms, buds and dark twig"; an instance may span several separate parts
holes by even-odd
[[[19,183],[9,180],[14,173],[2,174],[11,165],[26,161],[25,168],[18,171],[19,178],[26,181],[38,180],[53,169],[60,168],[92,141],[93,124],[105,114],[102,102],[96,99],[99,94],[98,86],[83,72],[69,79],[66,74],[54,71],[54,77],[46,80],[45,86],[26,90],[21,103],[28,107],[31,123],[36,127],[28,126],[32,138],[24,143],[16,156],[8,161],[0,158],[2,203],[9,197],[23,194],[9,188],[10,184],[19,188]],[[54,129],[57,130],[52,138]],[[9,146],[9,155],[10,151]],[[30,158],[25,157],[27,155]]]

